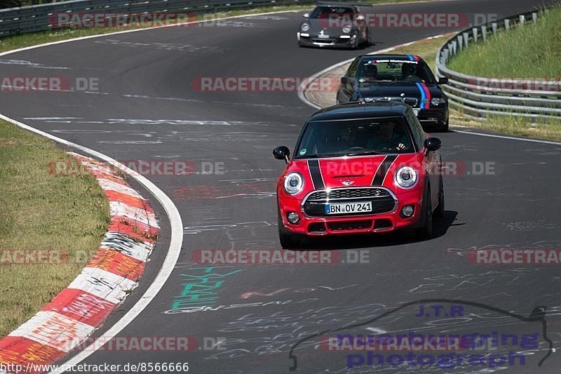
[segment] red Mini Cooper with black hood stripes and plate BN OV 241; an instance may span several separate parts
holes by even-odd
[[[444,215],[440,140],[428,138],[409,105],[337,105],[313,114],[278,180],[283,248],[304,236],[433,231]]]

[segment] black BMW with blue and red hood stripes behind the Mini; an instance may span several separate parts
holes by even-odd
[[[448,131],[448,98],[431,68],[414,55],[358,56],[341,78],[337,104],[400,101],[413,107],[427,131]]]

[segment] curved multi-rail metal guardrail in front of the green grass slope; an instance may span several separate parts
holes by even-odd
[[[515,27],[523,27],[528,22],[538,22],[539,15],[540,13],[536,11],[521,13],[487,25],[464,29],[440,47],[436,53],[435,74],[437,78],[448,79],[448,83],[442,88],[452,105],[463,109],[471,116],[487,114],[561,116],[561,91],[548,91],[545,78],[544,81],[527,79],[508,81],[462,74],[446,66],[459,51],[469,48],[471,44],[485,42],[489,36],[496,35],[497,32],[508,32]],[[511,87],[505,88],[505,85]]]

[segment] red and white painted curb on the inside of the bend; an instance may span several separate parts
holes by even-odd
[[[81,274],[0,340],[0,364],[20,365],[23,373],[39,373],[32,366],[54,363],[100,326],[137,286],[159,232],[154,211],[121,175],[102,162],[69,154],[97,178],[107,196],[109,231]]]

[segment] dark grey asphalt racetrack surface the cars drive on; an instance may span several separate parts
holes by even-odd
[[[496,13],[501,18],[541,3],[459,0],[386,5],[377,11]],[[120,161],[188,160],[196,172],[148,176],[180,211],[182,253],[158,296],[119,336],[193,337],[197,345],[190,352],[102,349],[83,363],[188,362],[193,373],[283,373],[290,368],[303,373],[472,373],[485,368],[558,373],[561,359],[550,347],[561,342],[559,265],[477,265],[468,253],[494,246],[560,248],[560,145],[454,131],[436,134],[443,159],[463,163],[466,173],[445,178],[447,211],[428,241],[391,234],[308,243],[330,251],[333,263],[323,265],[197,263],[200,250],[280,250],[276,179],[284,163],[273,159],[271,150],[277,145],[292,150],[314,109],[295,92],[198,92],[193,81],[304,78],[359,53],[452,31],[378,29],[377,45],[363,51],[299,48],[302,13],[235,18],[221,27],[100,36],[0,58],[3,76],[99,79],[98,91],[88,93],[0,93],[2,114]],[[492,172],[478,175],[481,165],[492,166]],[[203,168],[214,172],[202,173]],[[163,227],[161,242],[140,288],[96,335],[137,302],[161,266],[169,224],[156,201],[152,205]],[[423,313],[423,307],[431,312]],[[430,361],[442,352],[427,352],[424,366],[407,359],[400,363],[399,357],[391,359],[394,366],[389,361],[367,366],[366,352],[329,352],[320,343],[337,334],[490,331],[499,333],[499,341],[501,333],[517,338],[495,347],[503,356],[491,365],[464,359],[439,367]]]

